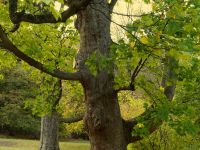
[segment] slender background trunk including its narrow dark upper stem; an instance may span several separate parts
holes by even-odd
[[[59,150],[59,114],[56,110],[56,106],[59,104],[62,97],[62,81],[53,81],[52,86],[53,88],[52,91],[49,91],[49,96],[54,102],[52,104],[51,113],[41,118],[39,150]]]

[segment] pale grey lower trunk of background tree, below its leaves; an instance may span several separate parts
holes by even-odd
[[[39,150],[59,150],[57,112],[45,115],[41,119]]]

